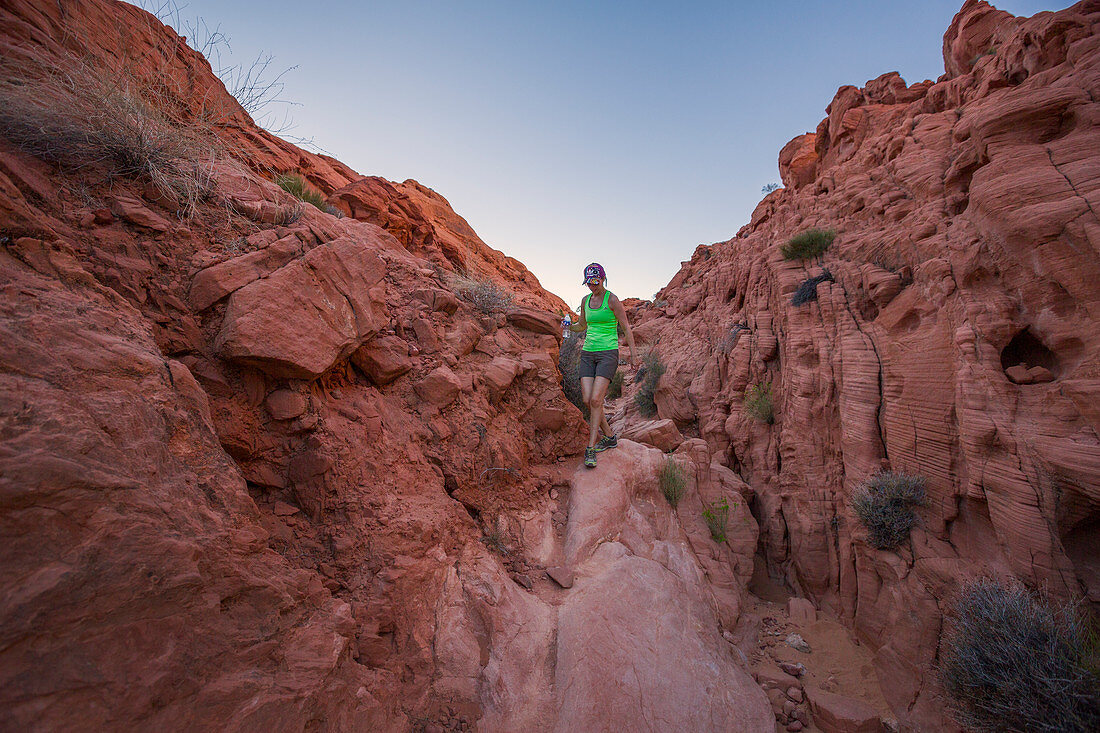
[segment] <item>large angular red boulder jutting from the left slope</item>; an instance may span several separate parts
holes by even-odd
[[[272,374],[316,379],[378,330],[385,274],[375,248],[338,239],[233,293],[218,353]]]

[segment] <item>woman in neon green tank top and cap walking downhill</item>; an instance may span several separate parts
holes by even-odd
[[[630,347],[630,368],[634,361],[634,332],[626,319],[626,310],[615,294],[604,287],[607,273],[601,264],[593,262],[584,269],[584,284],[588,295],[581,302],[581,318],[569,330],[587,330],[581,349],[581,395],[588,406],[588,447],[584,449],[584,466],[596,467],[596,453],[618,445],[618,436],[612,433],[604,415],[604,397],[612,378],[618,370],[618,327],[623,327],[626,342]],[[596,440],[600,431],[603,437]]]

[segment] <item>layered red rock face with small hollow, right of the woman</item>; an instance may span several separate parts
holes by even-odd
[[[961,581],[1100,603],[1098,24],[1096,2],[968,0],[941,79],[842,87],[780,154],[787,187],[634,309],[659,417],[751,486],[772,569],[877,649],[917,730],[946,724],[932,665]],[[784,260],[811,228],[827,252]],[[897,551],[850,502],[883,468],[928,492]]]

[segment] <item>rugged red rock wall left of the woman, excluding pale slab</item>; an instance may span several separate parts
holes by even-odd
[[[525,608],[482,540],[583,447],[564,304],[430,189],[256,128],[131,6],[4,3],[0,47],[228,110],[187,220],[0,140],[0,730],[474,724]],[[284,171],[385,189],[389,231]],[[459,265],[515,304],[457,296]]]

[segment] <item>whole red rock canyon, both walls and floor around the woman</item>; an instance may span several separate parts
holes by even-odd
[[[1094,623],[1096,0],[839,87],[623,299],[591,470],[570,305],[443,195],[129,3],[9,0],[0,51],[0,731],[957,733],[970,590]]]

